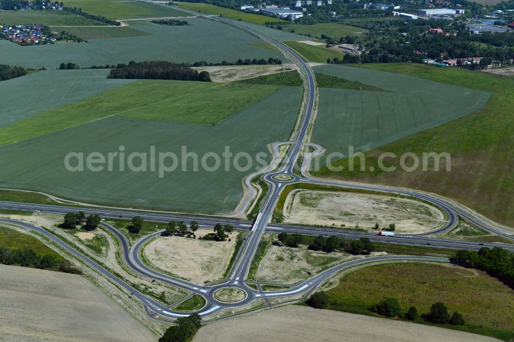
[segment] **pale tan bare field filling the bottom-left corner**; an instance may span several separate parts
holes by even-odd
[[[155,341],[86,278],[0,265],[0,340]]]

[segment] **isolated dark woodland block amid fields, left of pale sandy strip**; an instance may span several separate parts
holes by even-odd
[[[211,82],[209,72],[198,72],[184,64],[166,61],[131,61],[121,68],[112,69],[108,79],[151,79]]]

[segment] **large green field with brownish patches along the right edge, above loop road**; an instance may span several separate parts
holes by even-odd
[[[509,91],[514,86],[514,80],[480,71],[435,68],[413,63],[368,64],[362,67],[416,77],[419,80],[416,88],[422,91],[424,88],[420,86],[423,84],[421,80],[427,79],[441,82],[441,84],[490,92],[491,97],[483,108],[475,109],[470,115],[422,130],[380,148],[373,146],[375,149],[365,153],[367,168],[367,166],[377,167],[378,155],[383,151],[390,151],[397,156],[407,151],[418,156],[431,151],[447,152],[451,155],[451,172],[435,172],[429,167],[426,172],[421,169],[415,172],[404,172],[397,168],[389,173],[369,171],[332,173],[326,168],[321,168],[316,175],[434,192],[453,198],[490,219],[514,225],[514,212],[510,210],[514,207],[514,197],[511,196],[514,189],[514,173],[511,172],[514,168],[514,159],[511,158],[514,155],[514,136],[511,128],[514,126],[511,110],[514,108],[514,97]],[[448,106],[453,106],[457,102],[461,103],[460,106],[466,106],[464,94],[450,96],[443,103],[437,104],[445,97],[442,89],[439,88],[436,91],[437,96],[428,97],[427,105],[439,107],[445,111]],[[468,102],[473,104],[478,99],[478,97],[471,97]],[[316,128],[315,126],[315,130]],[[356,161],[358,162],[358,159]],[[398,160],[390,160],[390,163],[386,164],[398,166]],[[347,160],[334,165],[346,166],[345,169],[347,169]]]

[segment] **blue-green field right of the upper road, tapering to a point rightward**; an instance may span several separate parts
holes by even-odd
[[[365,151],[384,145],[465,116],[489,98],[485,92],[362,68],[324,65],[314,69],[390,91],[321,88],[311,141],[326,148],[324,156],[348,155],[350,146]]]

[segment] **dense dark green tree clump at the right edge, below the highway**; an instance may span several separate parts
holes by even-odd
[[[514,288],[514,254],[499,247],[483,247],[476,251],[458,251],[455,261],[464,266],[487,272]]]

